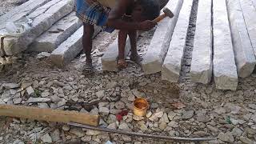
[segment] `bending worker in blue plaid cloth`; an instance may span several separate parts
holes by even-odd
[[[124,69],[126,38],[130,38],[130,60],[139,63],[142,58],[137,52],[137,30],[150,30],[157,25],[153,22],[168,0],[76,0],[76,14],[83,22],[83,49],[86,53],[86,70],[92,70],[92,37],[94,26],[102,26],[103,30],[118,32],[117,66]]]

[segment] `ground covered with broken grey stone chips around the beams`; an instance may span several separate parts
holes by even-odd
[[[126,70],[103,72],[100,58],[117,32],[101,33],[94,40],[94,73],[80,69],[85,61],[83,55],[62,70],[52,66],[49,58],[38,59],[36,54],[19,55],[17,62],[0,75],[0,104],[100,114],[100,125],[111,129],[216,138],[209,143],[256,143],[256,74],[239,79],[236,91],[216,90],[214,83],[205,86],[190,82],[197,5],[198,0],[195,0],[186,38],[186,56],[182,61],[182,78],[178,84],[162,81],[160,74],[144,75],[141,67],[133,62],[129,62]],[[150,30],[139,37],[139,54],[145,54],[153,34],[154,30]],[[146,98],[150,102],[145,117],[136,117],[132,113],[134,98]],[[120,112],[128,113],[117,119]],[[56,122],[0,117],[0,143],[107,141],[182,143],[107,134]]]

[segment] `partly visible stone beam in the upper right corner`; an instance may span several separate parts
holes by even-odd
[[[250,42],[253,46],[254,54],[256,55],[256,18],[253,16],[256,15],[256,7],[254,7],[251,0],[239,0],[239,2],[242,8],[243,18],[246,22]]]

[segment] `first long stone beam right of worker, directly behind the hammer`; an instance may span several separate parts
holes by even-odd
[[[158,73],[162,69],[162,62],[166,58],[169,49],[170,40],[174,32],[178,14],[182,8],[183,0],[171,0],[167,3],[168,7],[174,13],[174,18],[165,18],[158,23],[154,32],[154,37],[150,46],[143,57],[142,69],[145,74]]]

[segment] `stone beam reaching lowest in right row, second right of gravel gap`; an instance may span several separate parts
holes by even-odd
[[[237,68],[231,41],[226,1],[213,1],[214,13],[214,82],[217,89],[236,90]]]

